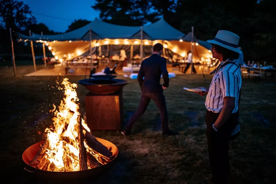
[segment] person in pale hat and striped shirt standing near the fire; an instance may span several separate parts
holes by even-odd
[[[198,87],[205,91],[197,94],[206,96],[207,113],[207,143],[212,184],[227,182],[230,172],[228,145],[240,132],[239,102],[241,89],[241,71],[236,59],[240,37],[232,32],[220,30],[212,44],[213,58],[220,60],[209,89]]]

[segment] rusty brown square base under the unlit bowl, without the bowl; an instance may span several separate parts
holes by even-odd
[[[86,123],[91,130],[121,130],[124,121],[122,90],[85,96]]]

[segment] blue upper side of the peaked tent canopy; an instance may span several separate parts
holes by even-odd
[[[140,34],[140,26],[122,26],[114,25],[103,22],[98,18],[95,18],[89,24],[83,26],[82,28],[57,34],[57,35],[39,35],[32,34],[32,36],[26,36],[17,33],[22,39],[28,40],[44,40],[44,41],[66,41],[66,40],[89,40],[89,29],[92,31],[92,40],[99,39],[140,39],[137,34]],[[143,26],[143,38],[148,40],[179,40],[184,33],[174,29],[169,25],[163,18],[156,21],[153,24]]]

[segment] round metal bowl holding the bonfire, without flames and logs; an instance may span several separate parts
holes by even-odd
[[[72,171],[72,172],[44,171],[44,170],[40,170],[35,167],[32,167],[29,165],[29,163],[36,156],[41,145],[44,143],[44,140],[43,140],[41,142],[33,144],[23,152],[22,159],[26,164],[26,167],[24,169],[26,171],[29,171],[30,173],[35,174],[38,177],[47,178],[47,179],[83,179],[83,178],[91,178],[93,176],[97,176],[101,174],[103,171],[107,170],[111,166],[111,164],[114,163],[113,160],[118,155],[118,148],[113,143],[107,140],[100,139],[97,137],[96,139],[100,143],[105,145],[113,153],[112,160],[109,163],[106,163],[105,165],[95,167],[93,169],[87,169],[84,171]]]

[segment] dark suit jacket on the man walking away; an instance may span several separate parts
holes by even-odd
[[[162,93],[160,84],[161,74],[163,75],[164,87],[169,86],[169,75],[166,66],[167,60],[158,54],[152,54],[141,63],[137,80],[144,93]],[[144,78],[144,79],[143,79]]]

